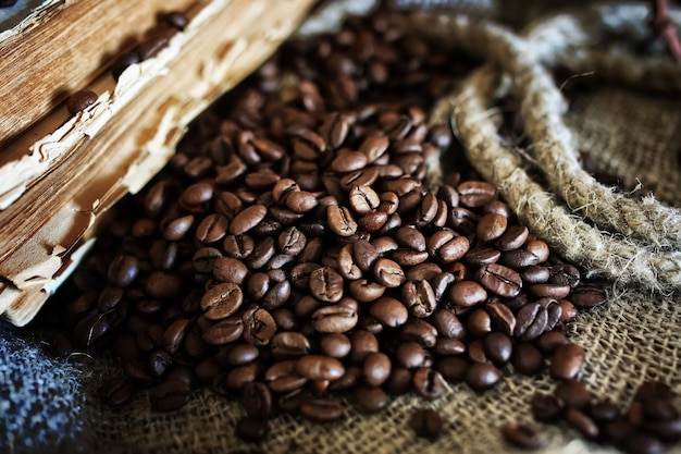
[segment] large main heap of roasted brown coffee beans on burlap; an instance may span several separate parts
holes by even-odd
[[[111,351],[112,406],[196,386],[326,422],[505,372],[578,377],[565,323],[606,300],[520,224],[428,109],[474,65],[375,12],[288,42],[202,114],[48,304],[52,348]],[[442,160],[439,159],[442,155]],[[453,169],[454,167],[454,169]],[[429,171],[448,176],[431,187]],[[412,427],[436,435],[442,421]]]

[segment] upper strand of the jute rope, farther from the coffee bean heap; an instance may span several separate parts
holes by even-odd
[[[589,217],[602,229],[633,236],[645,245],[666,250],[680,249],[681,210],[666,207],[654,197],[646,197],[640,203],[617,194],[599,184],[581,167],[574,137],[561,118],[566,101],[547,70],[540,64],[542,56],[560,53],[570,42],[581,45],[587,41],[587,32],[579,28],[579,22],[566,22],[569,23],[577,28],[567,36],[541,35],[546,38],[538,40],[541,45],[534,45],[534,40],[528,41],[500,26],[475,23],[466,16],[420,15],[413,26],[431,36],[446,38],[470,52],[483,53],[511,75],[515,90],[522,99],[521,110],[529,136],[535,144],[537,163],[549,187],[572,209]],[[612,60],[617,59],[612,54]],[[640,78],[632,76],[634,81]],[[659,85],[664,84],[660,82]]]

